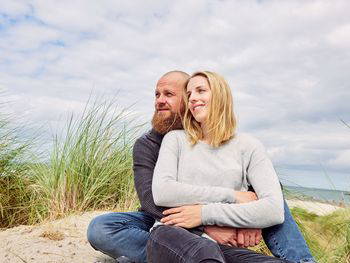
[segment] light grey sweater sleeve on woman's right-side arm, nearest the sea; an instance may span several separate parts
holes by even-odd
[[[203,225],[239,228],[265,228],[284,221],[283,196],[277,174],[262,144],[248,143],[247,179],[255,189],[257,201],[242,204],[212,203],[202,207]],[[244,165],[244,164],[242,164]]]

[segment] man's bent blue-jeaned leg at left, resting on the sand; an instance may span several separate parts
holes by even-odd
[[[94,218],[87,237],[92,247],[113,258],[146,262],[146,244],[154,219],[144,212],[108,213]]]

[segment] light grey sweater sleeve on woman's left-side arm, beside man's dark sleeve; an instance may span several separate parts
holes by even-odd
[[[177,181],[180,154],[176,132],[164,136],[154,170],[152,192],[156,205],[174,207],[207,203],[232,203],[234,191],[216,186],[196,186]],[[193,200],[196,200],[194,203]]]

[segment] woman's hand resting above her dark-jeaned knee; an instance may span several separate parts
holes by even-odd
[[[185,205],[167,209],[160,221],[165,225],[193,228],[202,224],[202,205]]]

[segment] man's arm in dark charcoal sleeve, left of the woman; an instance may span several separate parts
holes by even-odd
[[[156,206],[152,195],[152,177],[157,157],[155,149],[152,149],[144,138],[141,137],[135,142],[133,169],[136,192],[142,209],[159,220],[163,217],[162,212],[165,208]]]

